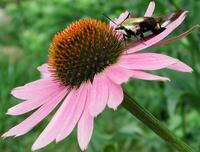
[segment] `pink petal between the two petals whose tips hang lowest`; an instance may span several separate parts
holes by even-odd
[[[75,125],[77,124],[80,116],[83,112],[83,108],[85,106],[87,92],[88,92],[88,84],[82,84],[76,99],[73,101],[73,105],[70,106],[69,111],[66,111],[68,114],[68,119],[66,119],[62,123],[62,129],[59,131],[59,134],[56,137],[56,142],[59,142],[66,138],[74,129]]]

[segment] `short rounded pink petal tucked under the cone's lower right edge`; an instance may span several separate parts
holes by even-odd
[[[131,77],[132,72],[119,65],[112,65],[106,68],[106,75],[116,84],[127,82]]]

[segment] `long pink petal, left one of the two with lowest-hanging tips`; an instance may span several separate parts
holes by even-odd
[[[53,140],[55,140],[56,136],[58,135],[60,129],[62,128],[62,123],[66,120],[68,113],[66,113],[67,109],[73,105],[73,99],[75,99],[76,91],[71,90],[70,93],[67,95],[65,100],[63,101],[60,108],[57,110],[53,118],[51,119],[50,123],[46,126],[37,140],[34,142],[32,146],[32,150],[35,151],[42,147],[45,147]]]

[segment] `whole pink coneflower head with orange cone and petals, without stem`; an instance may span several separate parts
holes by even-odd
[[[145,16],[154,10],[151,2]],[[125,12],[115,20],[121,23]],[[186,17],[183,12],[166,29],[144,43],[124,48],[119,33],[95,19],[81,19],[58,32],[50,45],[48,63],[40,66],[41,79],[12,90],[12,95],[24,100],[10,108],[9,115],[21,115],[32,110],[27,119],[11,128],[3,137],[21,136],[41,122],[58,105],[50,123],[33,144],[40,149],[52,141],[66,138],[77,125],[78,143],[85,150],[92,136],[94,117],[106,105],[116,109],[123,101],[121,84],[129,78],[143,80],[169,80],[146,71],[163,68],[181,72],[192,69],[178,59],[158,53],[136,53],[160,42]],[[185,36],[182,34],[181,36]],[[181,37],[180,36],[180,37]],[[136,41],[134,41],[134,44]],[[127,44],[132,46],[133,42]]]

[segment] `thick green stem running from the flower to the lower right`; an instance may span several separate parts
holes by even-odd
[[[184,143],[180,138],[167,129],[149,111],[141,107],[127,93],[124,93],[124,101],[122,106],[179,152],[193,152],[193,150],[186,143]]]

